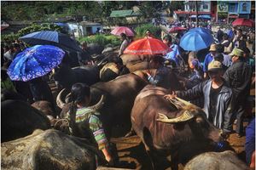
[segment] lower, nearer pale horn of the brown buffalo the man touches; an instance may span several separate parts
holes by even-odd
[[[184,111],[181,116],[178,116],[178,117],[175,117],[175,118],[168,118],[166,115],[161,114],[161,113],[159,113],[158,115],[159,115],[159,118],[156,119],[156,121],[159,121],[159,122],[170,122],[170,123],[186,122],[186,121],[189,121],[190,119],[192,119],[194,117],[194,115],[189,113],[189,111]]]

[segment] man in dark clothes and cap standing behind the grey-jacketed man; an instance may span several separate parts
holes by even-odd
[[[224,79],[233,90],[232,99],[232,127],[236,116],[236,133],[238,137],[243,135],[243,114],[245,112],[245,101],[250,92],[250,82],[252,70],[250,65],[243,59],[243,51],[239,48],[234,48],[230,57],[232,58],[232,65],[225,72]]]

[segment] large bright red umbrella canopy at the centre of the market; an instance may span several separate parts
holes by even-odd
[[[153,37],[139,39],[125,48],[124,54],[166,54],[170,52],[164,42]]]

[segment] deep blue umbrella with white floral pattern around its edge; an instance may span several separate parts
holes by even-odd
[[[65,52],[52,45],[36,45],[17,54],[7,74],[14,81],[43,77],[61,63]]]

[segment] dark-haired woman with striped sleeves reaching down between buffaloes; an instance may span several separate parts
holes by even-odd
[[[104,133],[102,122],[98,116],[100,114],[89,107],[90,88],[84,83],[75,83],[71,89],[73,104],[69,110],[69,119],[73,134],[75,136],[90,139],[102,150],[105,159],[113,162],[109,152],[108,139]]]

